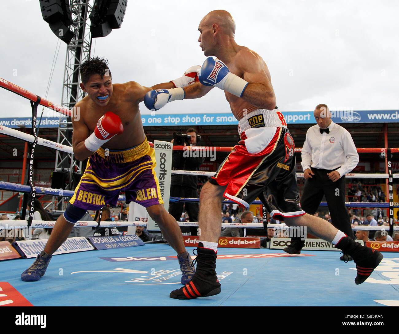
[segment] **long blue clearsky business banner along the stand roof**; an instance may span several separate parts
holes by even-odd
[[[398,122],[399,110],[330,110],[335,123],[383,123]],[[38,128],[58,128],[59,114],[48,111],[49,117],[38,119]],[[314,124],[313,111],[284,111],[280,110],[288,124]],[[51,114],[57,114],[51,115]],[[55,117],[51,117],[55,116]],[[238,121],[231,113],[207,114],[163,114],[152,116],[141,115],[143,126],[198,126],[198,125],[233,125]],[[30,117],[0,118],[0,127],[20,128],[32,126]],[[1,129],[0,129],[1,130]]]

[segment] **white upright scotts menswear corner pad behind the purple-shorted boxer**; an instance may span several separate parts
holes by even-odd
[[[172,148],[173,144],[168,141],[154,140],[154,150],[156,167],[155,173],[158,177],[159,188],[166,211],[169,211],[169,197],[170,197],[170,177],[172,175]],[[145,195],[145,194],[144,194]],[[129,204],[129,221],[133,222],[147,222],[147,230],[160,231],[158,225],[148,216],[148,212],[144,206],[130,202]],[[132,229],[128,228],[131,233]],[[135,234],[132,233],[132,234]]]

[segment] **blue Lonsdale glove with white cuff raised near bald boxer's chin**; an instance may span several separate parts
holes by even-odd
[[[218,59],[208,57],[198,74],[199,82],[205,86],[216,86],[241,97],[247,87],[247,81],[231,73],[227,66]]]

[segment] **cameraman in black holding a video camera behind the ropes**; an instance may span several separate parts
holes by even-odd
[[[172,143],[174,145],[193,145],[196,146],[198,136],[197,130],[190,128],[186,134],[190,136],[190,139],[183,138],[184,135],[180,136],[177,134]],[[184,143],[182,142],[184,141]],[[185,171],[198,171],[199,166],[202,165],[205,157],[189,157],[184,156],[188,151],[173,151],[172,153],[172,169],[173,170],[185,170]],[[170,196],[172,197],[186,197],[186,198],[198,198],[198,176],[196,175],[180,175],[172,174]],[[190,222],[198,222],[198,202],[174,202],[169,205],[169,213],[177,220],[180,221],[180,217],[183,212],[183,204],[185,204],[186,211],[190,217]],[[190,232],[192,236],[197,235],[197,227],[181,227],[182,232]]]

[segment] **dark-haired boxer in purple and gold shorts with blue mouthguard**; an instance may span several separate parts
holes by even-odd
[[[40,279],[51,255],[67,239],[86,210],[99,210],[106,204],[116,206],[121,191],[126,194],[126,203],[134,201],[146,207],[178,253],[182,283],[189,281],[195,269],[176,220],[164,208],[154,171],[155,153],[144,135],[139,103],[152,89],[182,87],[195,82],[198,70],[199,67],[190,68],[181,78],[148,88],[134,81],[113,84],[105,59],[90,58],[81,65],[80,87],[87,95],[75,105],[78,117],[72,118],[72,144],[76,159],[89,158],[89,161],[44,251],[22,273],[23,281]]]

